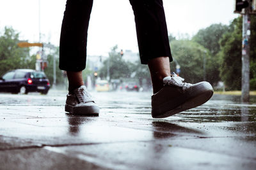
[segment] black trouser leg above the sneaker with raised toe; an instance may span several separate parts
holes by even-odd
[[[162,0],[129,0],[134,11],[141,64],[172,54]]]

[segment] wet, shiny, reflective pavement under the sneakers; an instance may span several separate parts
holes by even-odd
[[[0,169],[256,169],[255,96],[155,119],[150,92],[91,94],[99,117],[65,113],[65,90],[0,94]]]

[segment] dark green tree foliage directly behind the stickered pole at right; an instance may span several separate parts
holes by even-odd
[[[251,15],[250,35],[250,89],[256,89],[256,17]],[[228,26],[228,32],[220,39],[220,77],[228,90],[241,89],[242,27],[243,18],[235,18]]]

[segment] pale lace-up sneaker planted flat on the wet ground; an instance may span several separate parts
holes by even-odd
[[[95,104],[86,87],[82,85],[72,94],[68,93],[65,111],[72,114],[97,116],[99,115],[99,106]]]

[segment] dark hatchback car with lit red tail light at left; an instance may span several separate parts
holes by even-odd
[[[15,69],[8,71],[0,78],[0,92],[28,94],[40,92],[47,94],[50,83],[45,73],[33,69]]]

